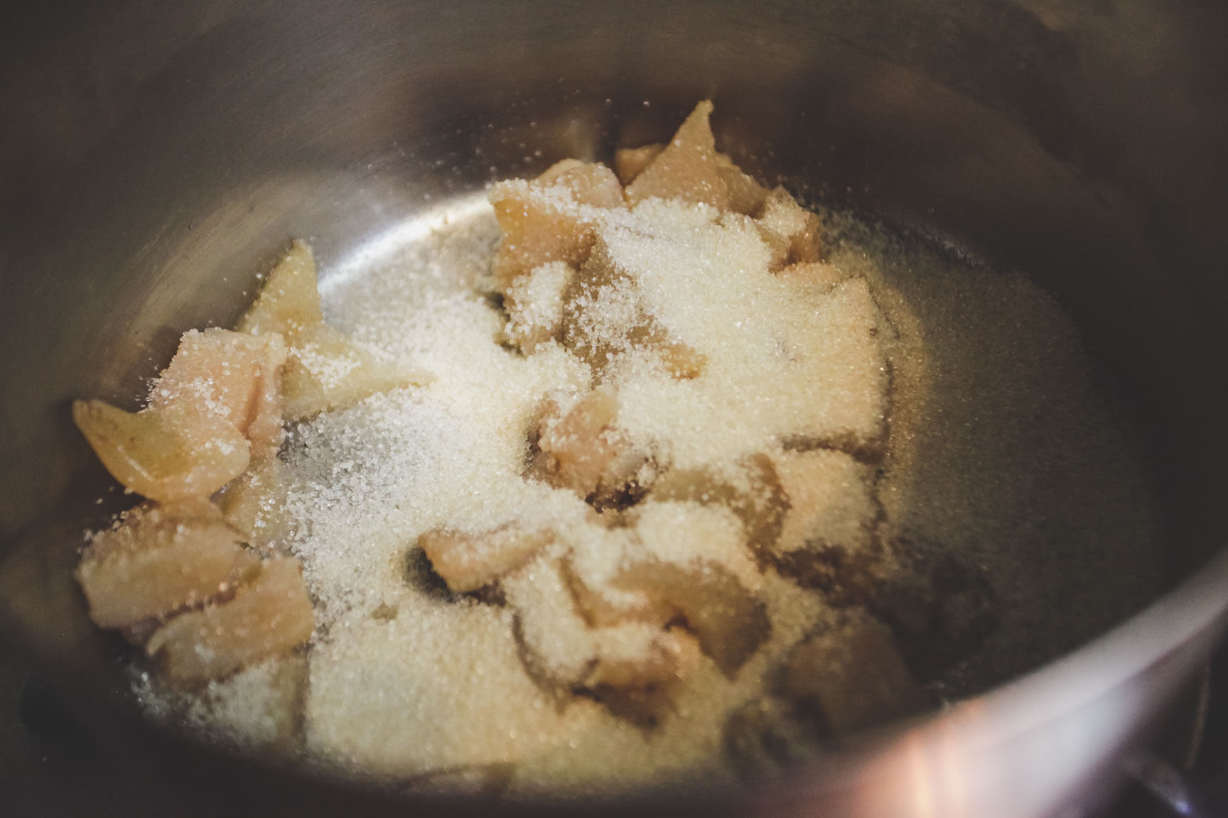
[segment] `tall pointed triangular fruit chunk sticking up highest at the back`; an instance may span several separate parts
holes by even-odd
[[[711,114],[707,99],[695,107],[669,145],[626,186],[628,201],[682,199],[728,208],[729,185],[717,163]]]

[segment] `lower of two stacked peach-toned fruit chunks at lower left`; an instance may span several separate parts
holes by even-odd
[[[162,625],[145,651],[172,678],[201,682],[301,645],[314,627],[298,560],[278,557],[263,562],[235,598]]]

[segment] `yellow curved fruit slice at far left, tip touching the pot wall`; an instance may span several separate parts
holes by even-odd
[[[125,412],[103,401],[74,401],[72,421],[107,471],[161,503],[209,497],[247,468],[248,443],[216,416],[181,426],[167,412]]]

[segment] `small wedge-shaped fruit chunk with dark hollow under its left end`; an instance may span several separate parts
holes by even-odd
[[[418,545],[453,594],[467,594],[489,585],[523,565],[554,541],[546,529],[526,529],[510,522],[491,531],[427,531]]]

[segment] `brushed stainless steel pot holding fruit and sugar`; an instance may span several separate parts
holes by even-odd
[[[68,401],[130,403],[181,331],[236,318],[292,234],[327,267],[491,178],[659,139],[709,96],[721,139],[760,174],[1061,298],[1149,461],[1173,573],[1156,605],[1065,659],[793,780],[698,802],[1057,814],[1111,790],[1212,649],[1228,616],[1224,7],[133,0],[2,13],[0,612],[149,805],[387,807],[133,717],[69,579],[81,529],[111,506],[91,502],[106,480]]]

